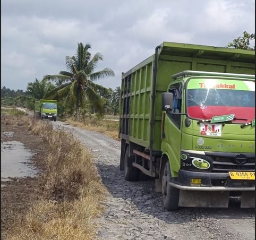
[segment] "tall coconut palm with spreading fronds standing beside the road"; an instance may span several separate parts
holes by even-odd
[[[101,85],[94,81],[115,76],[115,73],[110,68],[96,71],[99,61],[103,61],[103,56],[96,53],[93,57],[89,52],[90,44],[85,46],[82,42],[78,43],[76,55],[73,57],[66,56],[66,67],[68,71],[60,71],[56,75],[45,75],[42,81],[58,81],[63,82],[54,90],[47,93],[47,96],[55,96],[58,98],[66,98],[66,100],[75,102],[76,105],[76,120],[79,119],[79,107],[84,101],[89,101],[96,109],[101,109],[104,100],[98,95],[99,90],[105,90]]]

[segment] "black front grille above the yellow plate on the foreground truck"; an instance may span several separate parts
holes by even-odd
[[[212,172],[227,173],[229,171],[255,171],[255,158],[248,158],[245,164],[237,164],[234,157],[209,156],[212,159]]]

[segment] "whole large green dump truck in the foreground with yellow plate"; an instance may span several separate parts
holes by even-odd
[[[167,210],[255,207],[255,52],[163,42],[122,75],[120,169]]]

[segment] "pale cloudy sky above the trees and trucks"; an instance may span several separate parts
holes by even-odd
[[[26,89],[28,82],[66,70],[78,42],[112,68],[107,88],[121,73],[149,57],[163,41],[225,47],[244,31],[255,32],[254,0],[2,0],[2,87]]]

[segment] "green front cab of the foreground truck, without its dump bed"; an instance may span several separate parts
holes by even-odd
[[[253,205],[255,76],[184,71],[173,79],[162,101],[161,152],[170,165],[170,177],[161,179],[166,198],[169,186],[183,195],[197,191],[180,205],[198,199],[214,205],[204,197],[213,200],[223,190],[218,202],[227,207],[229,191],[240,191],[241,207],[249,199]]]

